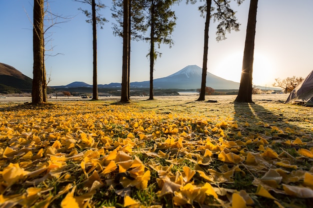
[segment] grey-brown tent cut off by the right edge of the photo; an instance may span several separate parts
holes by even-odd
[[[313,70],[290,92],[285,103],[313,107]]]

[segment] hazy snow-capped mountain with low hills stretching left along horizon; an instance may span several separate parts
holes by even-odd
[[[153,80],[154,89],[199,89],[201,87],[202,68],[189,65],[167,77]],[[239,83],[223,79],[206,72],[206,86],[213,89],[239,89]],[[72,82],[68,85],[53,88],[92,87],[84,82]],[[120,88],[120,83],[99,84],[98,88]],[[149,88],[149,81],[131,82],[131,88]]]

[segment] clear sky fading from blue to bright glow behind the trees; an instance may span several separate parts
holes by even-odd
[[[100,13],[107,22],[98,29],[98,84],[121,82],[122,40],[113,36],[111,0],[102,0],[107,8]],[[233,1],[234,2],[234,1]],[[9,64],[32,78],[32,4],[33,0],[0,0],[0,62]],[[216,23],[211,20],[209,33],[208,72],[222,78],[240,81],[242,54],[249,0],[233,9],[237,11],[239,32],[227,34],[216,42]],[[70,16],[70,21],[57,24],[51,34],[45,62],[50,74],[49,86],[73,81],[92,84],[92,30],[77,8],[86,8],[72,0],[49,0],[53,13]],[[202,67],[204,19],[197,6],[184,1],[175,5],[174,45],[161,45],[162,56],[155,62],[154,78],[165,77],[187,65]],[[257,11],[253,83],[271,86],[275,78],[305,77],[313,70],[313,0],[259,0]],[[59,19],[59,21],[62,21]],[[149,44],[131,42],[130,81],[149,79]],[[207,84],[209,86],[209,83]]]

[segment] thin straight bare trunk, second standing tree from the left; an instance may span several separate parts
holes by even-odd
[[[92,100],[98,100],[95,0],[91,1],[91,7],[92,7],[91,10],[92,10],[92,46],[93,46]]]

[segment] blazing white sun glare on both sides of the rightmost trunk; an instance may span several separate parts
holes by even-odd
[[[224,56],[209,72],[226,80],[240,82],[242,58],[242,52],[233,52],[228,56]],[[263,53],[254,52],[252,72],[253,85],[271,85],[273,74],[273,65],[270,58]]]

